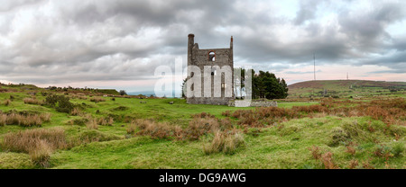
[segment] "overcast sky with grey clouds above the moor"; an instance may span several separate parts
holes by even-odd
[[[405,1],[2,0],[0,81],[150,91],[154,69],[200,49],[288,84],[406,81]],[[185,62],[186,63],[186,62]]]

